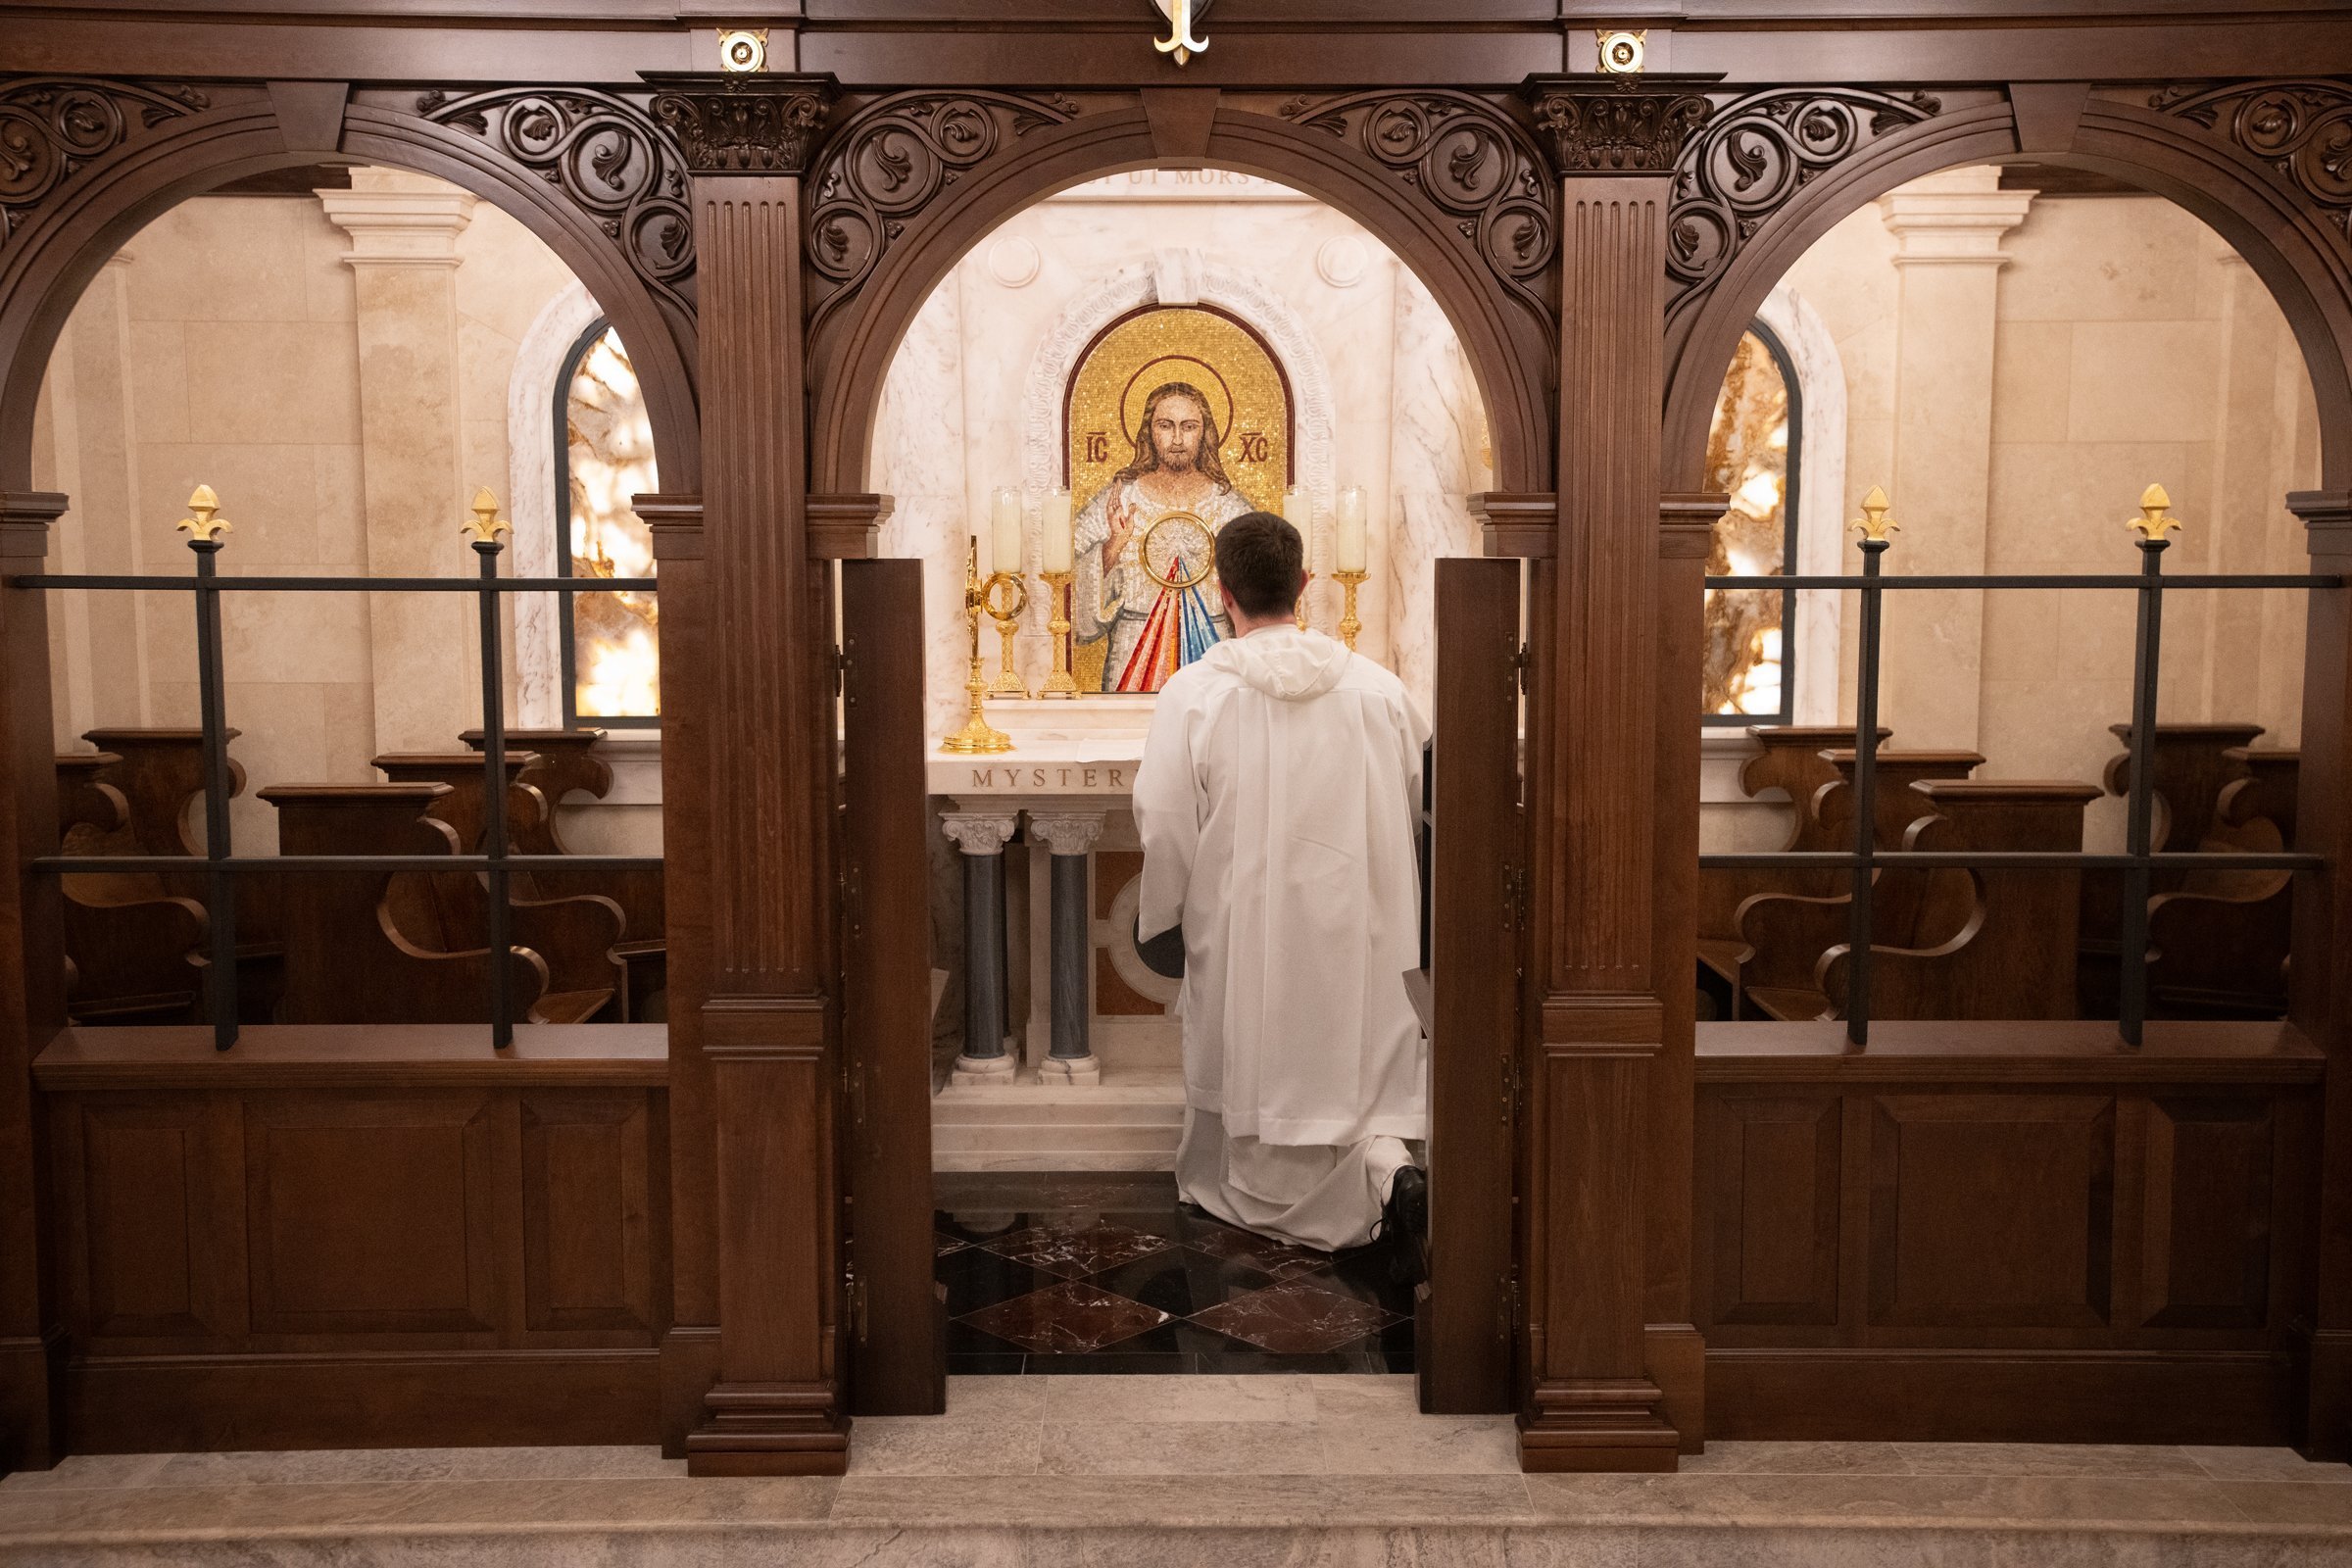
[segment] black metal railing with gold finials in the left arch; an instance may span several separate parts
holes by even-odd
[[[209,964],[205,969],[205,1016],[212,1025],[212,1044],[228,1051],[238,1044],[238,898],[235,879],[247,872],[303,875],[303,872],[452,872],[480,870],[489,898],[489,1037],[503,1051],[515,1044],[515,1004],[510,994],[508,961],[508,889],[515,872],[600,872],[600,870],[659,870],[661,856],[517,856],[510,853],[506,835],[506,654],[499,618],[499,597],[515,592],[654,592],[654,578],[501,578],[499,557],[506,545],[499,534],[499,505],[489,491],[475,496],[475,520],[463,524],[473,536],[480,571],[463,576],[221,576],[219,557],[228,522],[219,517],[219,498],[209,487],[198,487],[188,498],[193,512],[179,527],[188,531],[188,548],[195,552],[195,576],[169,574],[24,574],[9,576],[9,588],[35,590],[94,590],[94,592],[193,592],[195,595],[195,661],[198,661],[198,708],[205,745],[205,856],[38,856],[33,870],[49,875],[73,872],[188,872],[191,865],[205,870],[207,922],[212,933]],[[468,592],[480,602],[480,665],[482,665],[482,851],[454,856],[240,856],[235,853],[228,820],[230,773],[228,773],[228,696],[221,668],[221,595],[228,592]],[[553,809],[555,802],[548,802]]]

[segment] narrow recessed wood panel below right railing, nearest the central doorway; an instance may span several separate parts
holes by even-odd
[[[1835,1328],[1839,1105],[1835,1093],[1705,1103],[1700,1246],[1717,1326]]]

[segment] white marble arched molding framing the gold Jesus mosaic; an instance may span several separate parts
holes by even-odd
[[[1023,395],[1021,491],[1030,529],[1044,496],[1061,489],[1061,409],[1070,374],[1096,334],[1143,306],[1218,306],[1249,322],[1275,350],[1291,383],[1291,461],[1298,489],[1315,498],[1317,534],[1331,508],[1331,371],[1315,334],[1291,303],[1261,275],[1202,261],[1192,247],[1167,247],[1150,261],[1110,273],[1063,306],[1030,357]],[[1035,543],[1030,545],[1035,550]],[[1033,599],[1042,628],[1047,607]]]

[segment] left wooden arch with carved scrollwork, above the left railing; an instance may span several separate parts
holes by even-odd
[[[517,113],[532,99],[555,134]],[[635,103],[576,89],[421,99],[315,82],[0,78],[0,489],[31,487],[40,378],[99,266],[188,195],[322,160],[433,174],[548,244],[630,343],[663,484],[694,489],[691,240],[675,249],[661,202],[635,195],[659,190],[675,158]]]

